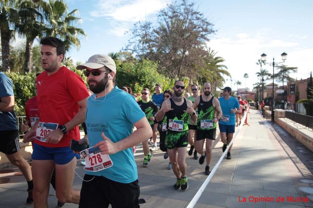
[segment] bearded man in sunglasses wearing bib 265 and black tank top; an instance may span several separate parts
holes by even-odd
[[[182,80],[175,82],[174,94],[171,99],[164,100],[161,110],[156,114],[156,120],[161,121],[164,115],[167,116],[167,133],[165,137],[165,146],[167,148],[172,170],[177,177],[174,189],[186,190],[188,188],[186,170],[187,164],[186,151],[188,145],[188,115],[191,115],[193,122],[196,122],[198,116],[192,108],[191,100],[183,97],[182,93],[185,84]]]

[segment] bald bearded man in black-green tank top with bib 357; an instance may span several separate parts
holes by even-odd
[[[205,166],[205,174],[210,174],[210,163],[212,159],[212,144],[215,140],[216,123],[222,116],[221,106],[217,98],[211,95],[211,83],[204,83],[203,95],[195,99],[193,109],[198,107],[197,121],[197,147],[201,154],[199,163],[203,164],[204,158],[207,157],[207,165]],[[217,116],[215,117],[215,111]],[[205,149],[203,151],[204,140],[206,139]]]

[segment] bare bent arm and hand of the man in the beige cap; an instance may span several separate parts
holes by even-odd
[[[101,133],[104,141],[98,142],[95,144],[95,147],[99,146],[101,154],[115,154],[116,152],[120,152],[124,149],[133,147],[136,144],[142,143],[152,136],[152,129],[146,117],[143,117],[134,123],[134,126],[137,128],[136,131],[116,143],[113,143],[110,138],[107,138],[104,133]]]

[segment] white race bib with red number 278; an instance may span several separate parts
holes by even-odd
[[[85,158],[86,171],[98,172],[113,166],[110,156],[107,154],[101,154],[99,147],[91,147],[81,151],[80,153]]]

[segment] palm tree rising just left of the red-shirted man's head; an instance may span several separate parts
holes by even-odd
[[[23,1],[19,5],[20,22],[16,29],[21,36],[26,37],[24,73],[32,70],[32,46],[36,37],[42,36],[44,31],[44,18],[47,19],[51,13],[47,2],[40,0],[36,3],[30,0]]]

